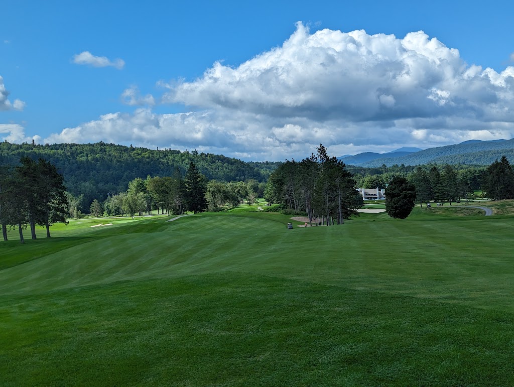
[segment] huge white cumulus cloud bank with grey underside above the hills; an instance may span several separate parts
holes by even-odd
[[[191,111],[138,108],[47,140],[194,147],[282,160],[305,157],[320,142],[343,154],[514,134],[514,67],[497,72],[467,65],[457,49],[423,31],[403,38],[363,30],[310,33],[298,23],[282,46],[239,66],[216,62],[198,79],[163,85],[163,103]],[[122,95],[130,105],[151,105],[150,97],[140,97],[137,88]]]

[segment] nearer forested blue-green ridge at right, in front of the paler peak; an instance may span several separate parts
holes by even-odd
[[[377,158],[359,164],[361,167],[379,167],[386,164],[419,165],[428,163],[476,164],[488,165],[503,155],[514,160],[514,139],[504,141],[466,141],[455,145],[438,146],[424,151],[411,153],[407,156],[393,158]]]

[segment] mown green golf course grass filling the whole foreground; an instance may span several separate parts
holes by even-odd
[[[514,223],[493,206],[11,231],[0,385],[512,385]]]

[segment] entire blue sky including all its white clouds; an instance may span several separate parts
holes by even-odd
[[[345,3],[6,2],[0,140],[283,160],[514,137],[510,2]]]

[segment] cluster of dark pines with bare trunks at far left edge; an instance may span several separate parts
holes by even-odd
[[[7,241],[7,229],[17,228],[24,243],[23,230],[27,225],[30,236],[36,239],[35,226],[46,228],[50,237],[53,223],[67,223],[68,201],[64,179],[47,160],[22,157],[20,165],[0,170],[0,223]]]

